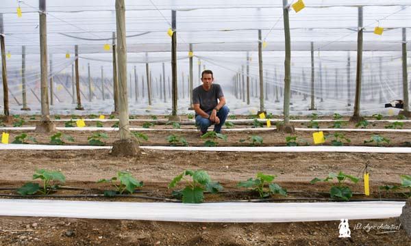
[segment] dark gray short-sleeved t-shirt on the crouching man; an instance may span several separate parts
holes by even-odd
[[[219,104],[217,99],[221,96],[224,96],[224,94],[219,84],[212,83],[208,92],[204,90],[203,85],[200,85],[192,90],[192,103],[199,104],[200,109],[207,112]]]

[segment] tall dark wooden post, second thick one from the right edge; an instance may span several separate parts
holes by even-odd
[[[358,7],[358,43],[357,43],[357,71],[356,71],[356,99],[354,101],[354,113],[350,118],[353,122],[359,122],[361,101],[361,77],[362,77],[362,7]]]

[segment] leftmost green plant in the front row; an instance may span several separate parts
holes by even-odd
[[[42,193],[43,195],[49,195],[51,190],[58,189],[60,184],[55,184],[51,186],[51,182],[60,181],[63,184],[66,182],[66,177],[61,172],[58,171],[46,171],[44,169],[37,169],[36,174],[33,174],[33,179],[40,178],[43,181],[42,189],[37,183],[27,182],[17,189],[17,193],[20,195],[34,195],[37,192]]]

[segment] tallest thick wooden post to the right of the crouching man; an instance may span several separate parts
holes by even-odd
[[[290,87],[291,87],[291,41],[290,23],[288,19],[288,0],[283,0],[284,16],[284,37],[286,44],[286,59],[284,61],[284,128],[286,133],[294,132],[294,127],[290,125]]]

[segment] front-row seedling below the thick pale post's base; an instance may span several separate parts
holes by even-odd
[[[120,184],[117,182],[120,181]],[[138,182],[136,178],[132,176],[131,172],[117,172],[116,177],[112,177],[110,179],[102,178],[98,180],[97,183],[101,182],[108,182],[112,183],[113,187],[116,188],[116,191],[104,191],[105,196],[114,196],[116,194],[123,194],[124,191],[128,191],[129,193],[134,193],[137,187],[142,187],[144,182]]]

